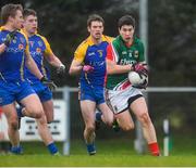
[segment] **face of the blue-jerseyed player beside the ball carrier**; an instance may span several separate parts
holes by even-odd
[[[88,26],[88,31],[94,39],[96,39],[96,40],[101,39],[102,33],[103,33],[102,22],[93,21],[91,25]]]

